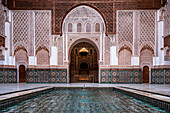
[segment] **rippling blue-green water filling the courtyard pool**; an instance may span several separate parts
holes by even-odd
[[[12,113],[166,113],[112,89],[58,89],[10,107]]]

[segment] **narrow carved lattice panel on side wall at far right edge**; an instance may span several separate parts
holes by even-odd
[[[164,36],[170,35],[170,1],[165,7]]]

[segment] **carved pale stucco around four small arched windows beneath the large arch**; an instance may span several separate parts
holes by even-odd
[[[87,32],[86,31],[86,26],[90,25],[90,32],[95,32],[95,24],[99,23],[101,29],[103,30],[103,19],[100,16],[100,14],[95,11],[94,9],[88,7],[88,6],[79,6],[72,11],[66,16],[66,19],[64,20],[63,23],[63,31],[67,32],[68,31],[68,24],[72,24],[72,32],[77,32],[78,31],[78,26],[81,27],[81,32]],[[80,26],[81,24],[81,26]],[[102,31],[101,31],[102,32]]]

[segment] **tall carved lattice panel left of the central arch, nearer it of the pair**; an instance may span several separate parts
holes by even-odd
[[[38,48],[39,44],[49,46],[50,42],[50,12],[35,12],[35,46]]]

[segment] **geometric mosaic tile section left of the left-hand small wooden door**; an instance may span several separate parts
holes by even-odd
[[[17,70],[16,69],[0,69],[0,83],[16,83]]]

